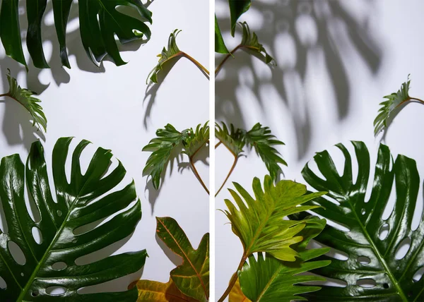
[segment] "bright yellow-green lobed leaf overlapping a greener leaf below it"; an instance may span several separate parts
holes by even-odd
[[[295,261],[299,253],[290,246],[302,241],[298,234],[305,228],[308,219],[295,221],[283,218],[317,207],[302,204],[325,193],[307,194],[306,187],[294,181],[284,180],[274,185],[268,175],[264,179],[264,189],[259,179],[254,179],[256,199],[238,183],[234,186],[238,193],[229,191],[238,209],[226,199],[228,210],[224,213],[231,222],[232,231],[242,241],[244,255],[266,252],[279,260]]]

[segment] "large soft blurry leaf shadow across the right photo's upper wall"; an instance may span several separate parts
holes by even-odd
[[[366,4],[372,8],[374,0]],[[305,85],[311,61],[322,61],[319,66],[326,69],[336,99],[335,114],[339,121],[345,119],[349,114],[352,90],[349,82],[351,73],[346,68],[346,62],[355,52],[373,75],[379,71],[382,63],[382,49],[368,26],[373,10],[369,9],[367,16],[357,18],[341,1],[329,0],[258,0],[247,14],[252,10],[261,13],[263,20],[259,29],[251,25],[252,31],[257,33],[259,42],[276,58],[278,66],[271,71],[271,78],[264,77],[255,68],[256,58],[237,52],[235,59],[225,64],[221,71],[223,74],[216,79],[216,119],[242,128],[250,126],[243,111],[242,99],[237,99],[237,90],[247,85],[264,112],[267,106],[264,90],[272,86],[278,99],[290,111],[297,138],[298,159],[302,159],[309,150],[314,119],[319,118],[310,109],[309,105],[315,100],[310,97],[313,92],[306,91]],[[218,16],[218,22],[224,37],[230,37],[229,17]],[[349,44],[353,45],[353,52]],[[216,56],[217,62],[221,59],[222,55]],[[243,83],[246,74],[251,79]]]

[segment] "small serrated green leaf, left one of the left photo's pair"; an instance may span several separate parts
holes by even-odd
[[[158,190],[160,176],[170,159],[172,150],[175,150],[184,138],[187,138],[188,130],[179,132],[170,123],[164,129],[156,131],[157,138],[153,138],[143,151],[153,152],[147,159],[143,174],[152,178],[153,187]]]

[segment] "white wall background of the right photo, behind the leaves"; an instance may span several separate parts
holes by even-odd
[[[326,1],[314,1],[324,4]],[[334,46],[341,53],[347,82],[343,85],[342,74],[336,73],[331,80],[327,63],[336,64],[334,56],[325,59],[323,41],[317,40],[317,23],[311,18],[299,18],[296,30],[298,35],[309,42],[309,46],[296,46],[293,34],[285,30],[286,15],[283,11],[293,1],[257,0],[241,20],[246,20],[251,29],[257,31],[259,42],[274,56],[278,67],[270,70],[261,61],[243,52],[237,52],[235,59],[225,64],[224,70],[216,78],[216,119],[235,123],[236,126],[252,128],[258,121],[270,126],[276,136],[283,140],[285,146],[278,147],[289,168],[283,168],[286,179],[302,181],[300,171],[305,163],[312,159],[314,152],[331,150],[338,164],[343,164],[341,152],[332,147],[336,143],[345,143],[349,150],[349,140],[362,140],[372,154],[372,167],[379,140],[373,135],[372,122],[377,116],[379,102],[384,95],[396,92],[401,83],[411,73],[412,97],[424,97],[424,2],[420,0],[377,0],[377,1],[340,1],[351,16],[363,26],[363,35],[370,37],[375,44],[381,61],[375,72],[360,55],[355,43],[346,35],[346,27],[340,19],[328,20],[333,32]],[[308,11],[308,3],[302,9]],[[227,1],[218,0],[216,11],[223,21],[224,40],[232,49],[240,42],[240,35],[232,39],[228,32]],[[259,9],[260,8],[260,9]],[[334,13],[334,12],[332,12]],[[289,14],[290,16],[290,14]],[[334,16],[334,15],[331,15]],[[344,23],[346,25],[346,23]],[[367,25],[366,25],[367,24]],[[226,26],[226,27],[225,27]],[[305,80],[300,77],[302,49],[306,50]],[[217,56],[220,62],[220,57]],[[376,61],[376,60],[374,60]],[[378,61],[378,60],[377,60]],[[288,97],[278,94],[283,87]],[[298,89],[296,89],[298,87]],[[344,99],[336,97],[338,89]],[[348,89],[346,88],[348,87]],[[234,101],[234,102],[232,102]],[[260,102],[263,104],[261,107]],[[342,119],[338,118],[336,104],[347,104],[348,112]],[[242,104],[241,113],[235,108]],[[225,113],[223,113],[223,111]],[[401,153],[416,159],[420,174],[424,173],[423,147],[424,139],[421,129],[424,127],[424,106],[408,104],[396,116],[387,133],[385,142],[396,156]],[[300,126],[310,121],[309,147],[303,147]],[[296,125],[298,124],[298,125]],[[305,129],[305,128],[304,128]],[[296,132],[298,131],[298,132]],[[305,139],[306,140],[306,139]],[[219,148],[216,152],[216,187],[220,186],[232,164],[232,158]],[[240,159],[230,181],[237,181],[252,192],[252,179],[263,179],[267,174],[261,160],[248,152],[247,158]],[[373,173],[372,173],[373,174]],[[228,182],[227,187],[231,187]],[[422,198],[422,189],[419,197]],[[225,209],[224,198],[230,198],[228,191],[222,191],[216,199],[216,207]],[[419,203],[416,218],[422,211]],[[228,286],[232,273],[235,272],[242,256],[242,245],[231,231],[228,219],[222,212],[216,212],[216,296],[220,297]],[[413,225],[417,225],[417,219]]]

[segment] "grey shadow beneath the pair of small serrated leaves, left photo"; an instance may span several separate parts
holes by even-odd
[[[160,186],[158,190],[156,190],[153,187],[152,179],[150,176],[148,176],[148,179],[146,181],[146,188],[144,189],[144,192],[146,195],[146,191],[148,191],[148,202],[151,204],[152,216],[153,216],[153,212],[155,211],[156,200],[158,200],[160,191],[163,188],[163,184],[167,181],[167,178],[172,179],[171,176],[175,171],[175,167],[177,167],[177,171],[179,172],[179,174],[182,174],[184,169],[191,169],[190,164],[188,162],[189,159],[187,155],[182,155],[181,152],[182,152],[182,147],[177,147],[175,148],[175,150],[172,150],[170,159],[166,166],[166,167],[169,167],[169,174],[167,175],[168,168],[164,169],[164,171],[160,175]],[[208,165],[209,164],[208,157],[209,157],[209,150],[208,148],[203,147],[199,152],[196,153],[196,156],[194,157],[194,164],[196,164],[197,162],[201,162],[205,165]],[[147,175],[143,174],[143,176],[147,176]],[[193,177],[195,176],[193,175]],[[199,183],[199,186],[201,186],[200,183]]]

